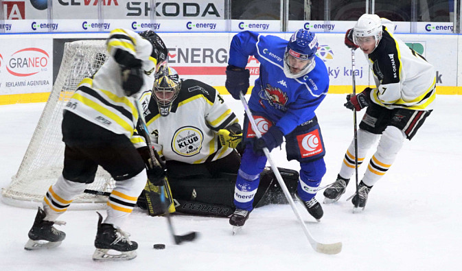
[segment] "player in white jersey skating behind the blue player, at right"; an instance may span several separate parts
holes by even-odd
[[[364,209],[369,191],[391,167],[404,139],[411,140],[430,115],[435,99],[436,72],[432,64],[402,40],[393,36],[389,20],[376,14],[363,14],[355,27],[345,34],[345,45],[360,48],[368,58],[376,81],[357,95],[347,95],[345,107],[367,107],[358,130],[358,165],[371,146],[380,138],[352,202]],[[325,189],[325,203],[335,202],[345,193],[355,171],[354,141],[343,159],[334,184]]]

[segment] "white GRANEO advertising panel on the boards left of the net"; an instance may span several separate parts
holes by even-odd
[[[51,91],[51,38],[0,39],[0,94]]]

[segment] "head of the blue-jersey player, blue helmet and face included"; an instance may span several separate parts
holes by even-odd
[[[299,78],[314,69],[314,56],[318,50],[318,38],[308,30],[297,30],[286,47],[284,74],[288,78]]]

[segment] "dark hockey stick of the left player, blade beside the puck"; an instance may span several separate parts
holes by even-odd
[[[138,115],[139,115],[139,119],[141,120],[141,126],[142,126],[140,129],[141,131],[139,132],[141,132],[143,134],[144,139],[146,139],[146,145],[148,145],[148,148],[149,148],[149,156],[151,158],[151,161],[152,163],[154,163],[155,166],[162,167],[162,169],[165,169],[165,165],[161,163],[161,160],[159,159],[159,155],[157,155],[157,153],[154,152],[154,148],[152,148],[152,142],[149,137],[148,127],[146,126],[146,120],[144,119],[143,109],[141,107],[141,104],[139,104],[138,99],[135,99],[135,104],[137,106]],[[167,185],[165,183],[165,178],[163,179],[163,184],[164,185],[161,187],[161,202],[162,204],[165,204],[165,185]],[[167,217],[168,228],[170,230],[170,234],[172,235],[175,241],[175,244],[179,245],[183,241],[193,241],[194,239],[196,239],[195,231],[191,233],[186,233],[185,235],[176,235],[174,228],[173,228],[173,224],[172,224],[172,218],[170,217],[170,211],[167,210],[165,212],[165,216]]]

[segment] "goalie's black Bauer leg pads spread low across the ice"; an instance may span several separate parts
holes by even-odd
[[[172,165],[171,165],[172,166]],[[169,167],[169,163],[167,163]],[[203,215],[213,217],[229,217],[234,210],[233,204],[235,180],[237,174],[221,173],[219,176],[211,176],[205,167],[181,163],[173,166],[174,170],[168,170],[168,183],[170,185],[173,204],[170,205],[170,213],[187,215]],[[278,167],[284,182],[294,198],[297,191],[299,173],[292,169]],[[153,193],[156,191],[157,193]],[[156,202],[160,198],[159,189],[150,189],[141,193],[137,205],[141,209],[148,209],[150,215],[162,215],[165,209]],[[170,196],[167,196],[171,199]],[[147,204],[148,202],[148,204]],[[270,168],[265,168],[260,174],[259,188],[253,201],[253,207],[262,207],[267,204],[287,204],[284,192]],[[152,209],[154,207],[154,209]],[[155,209],[155,207],[159,207]]]

